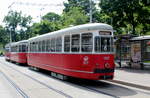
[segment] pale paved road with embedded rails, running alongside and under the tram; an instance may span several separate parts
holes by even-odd
[[[0,87],[2,87],[0,96],[4,94],[3,98],[150,97],[150,91],[108,81],[58,80],[51,77],[48,72],[36,72],[26,66],[6,62],[2,57],[0,58],[0,78]],[[14,85],[12,86],[12,84]],[[16,88],[20,90],[16,90]]]

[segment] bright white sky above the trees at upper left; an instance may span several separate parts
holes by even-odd
[[[48,12],[61,14],[64,9],[63,2],[67,0],[0,0],[0,25],[8,11],[22,11],[24,15],[31,15],[34,22]]]

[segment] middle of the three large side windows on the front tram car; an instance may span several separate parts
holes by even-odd
[[[72,35],[71,51],[79,52],[79,50],[80,50],[80,35],[79,34]]]

